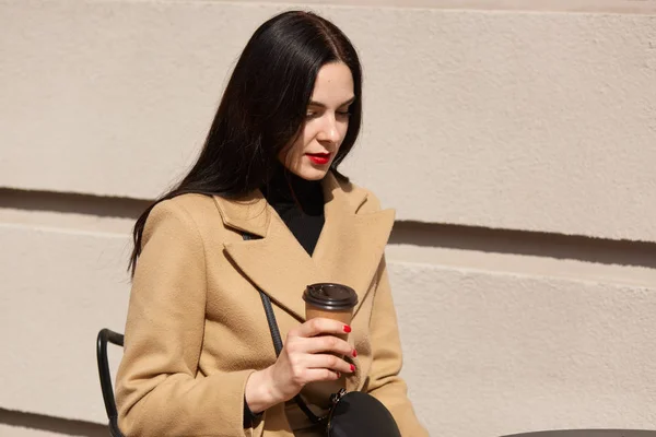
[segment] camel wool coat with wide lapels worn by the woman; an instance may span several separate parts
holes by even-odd
[[[241,201],[184,194],[153,209],[117,375],[124,434],[294,436],[303,416],[291,403],[243,427],[246,380],[276,362],[254,284],[271,298],[284,339],[305,320],[305,286],[337,282],[359,296],[349,336],[359,355],[356,371],[343,377],[347,389],[380,400],[405,437],[427,436],[398,375],[401,347],[384,258],[394,211],[380,211],[371,192],[331,173],[323,187],[326,222],[312,257],[259,191]],[[261,238],[245,241],[243,232]],[[319,386],[303,393],[313,399],[330,390]]]

